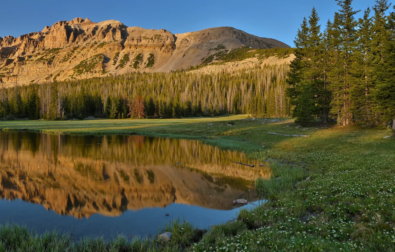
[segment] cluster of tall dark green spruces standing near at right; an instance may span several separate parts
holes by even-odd
[[[365,127],[393,121],[395,135],[395,12],[376,0],[363,17],[352,0],[337,0],[339,12],[323,32],[313,8],[295,38],[287,96],[296,122],[321,118]]]

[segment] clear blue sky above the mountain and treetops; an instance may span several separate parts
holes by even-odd
[[[359,16],[375,0],[354,0]],[[315,6],[321,23],[338,6],[335,0],[20,0],[0,4],[0,37],[41,31],[60,20],[88,17],[93,22],[119,20],[126,26],[164,28],[172,33],[232,26],[293,46],[303,17]]]

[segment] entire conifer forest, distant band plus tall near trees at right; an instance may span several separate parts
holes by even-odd
[[[249,113],[293,116],[302,125],[319,118],[343,126],[388,126],[395,121],[395,10],[387,0],[376,0],[357,18],[360,11],[353,9],[352,0],[337,3],[339,11],[325,27],[314,8],[303,20],[290,65],[211,74],[128,73],[3,88],[0,117],[178,118]]]

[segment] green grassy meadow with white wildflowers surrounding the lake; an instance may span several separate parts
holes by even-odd
[[[213,125],[209,125],[213,124]],[[228,126],[232,124],[233,126]],[[71,134],[141,134],[197,138],[269,163],[271,179],[256,181],[267,203],[242,210],[201,237],[175,221],[158,237],[106,241],[25,227],[0,226],[1,251],[395,251],[395,141],[391,130],[298,126],[288,118],[247,115],[182,119],[8,121],[2,130]],[[269,135],[310,135],[291,137]]]

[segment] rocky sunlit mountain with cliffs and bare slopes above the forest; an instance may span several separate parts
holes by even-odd
[[[128,27],[119,21],[94,23],[75,18],[19,38],[0,37],[0,82],[5,87],[45,81],[84,79],[131,71],[186,69],[232,49],[290,48],[232,27],[172,34]]]

